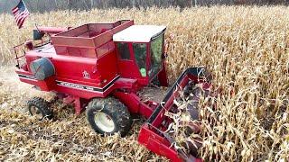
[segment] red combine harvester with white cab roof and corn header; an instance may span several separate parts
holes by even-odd
[[[147,121],[141,127],[138,141],[158,155],[172,161],[201,161],[172,146],[173,139],[165,130],[172,119],[164,112],[177,112],[173,100],[190,85],[210,87],[210,76],[203,67],[187,68],[168,89],[163,102],[144,101],[138,92],[151,83],[168,86],[165,71],[165,26],[135,25],[134,21],[88,23],[76,28],[40,27],[33,40],[50,40],[38,46],[24,43],[26,52],[17,56],[20,80],[42,91],[55,92],[64,103],[74,103],[79,114],[87,109],[93,130],[101,134],[130,130],[131,114],[141,114]],[[15,48],[14,48],[15,49]],[[23,63],[20,63],[25,58]],[[28,102],[32,115],[52,118],[48,103],[42,98]],[[198,110],[191,117],[198,120]],[[194,114],[194,115],[193,115]]]

